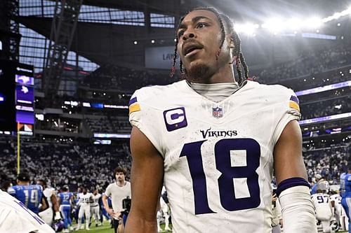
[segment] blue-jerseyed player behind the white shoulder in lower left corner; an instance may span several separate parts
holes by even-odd
[[[20,173],[17,177],[17,184],[8,188],[8,193],[25,204],[28,209],[34,213],[44,211],[48,208],[48,202],[43,195],[43,187],[41,185],[29,185],[29,175]],[[41,208],[39,210],[39,204]]]

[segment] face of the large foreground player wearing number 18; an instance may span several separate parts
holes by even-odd
[[[177,36],[177,50],[188,76],[189,74],[201,76],[200,70],[211,72],[211,69],[216,69],[218,66],[216,54],[220,48],[222,35],[218,18],[214,13],[208,10],[190,12],[181,22]]]

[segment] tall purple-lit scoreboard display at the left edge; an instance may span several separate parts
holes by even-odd
[[[0,133],[33,135],[33,66],[0,60]]]

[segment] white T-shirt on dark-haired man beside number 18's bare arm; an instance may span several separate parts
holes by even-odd
[[[107,186],[105,191],[106,197],[111,196],[112,209],[115,213],[123,211],[122,201],[126,197],[131,197],[131,183],[126,181],[125,185],[120,187],[116,182]]]

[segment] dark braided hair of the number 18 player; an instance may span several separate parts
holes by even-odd
[[[238,78],[239,78],[238,82],[239,82],[239,84],[243,83],[244,80],[249,78],[249,67],[246,64],[244,55],[241,51],[241,40],[239,38],[239,35],[237,34],[237,31],[235,31],[235,29],[234,29],[234,24],[233,24],[232,20],[230,20],[230,17],[228,17],[227,15],[225,15],[223,13],[219,13],[218,10],[216,10],[216,8],[213,8],[213,7],[199,7],[199,8],[194,8],[191,11],[194,11],[194,10],[211,11],[213,14],[216,15],[216,17],[218,19],[218,22],[220,24],[220,35],[221,36],[220,36],[220,46],[218,48],[218,54],[216,55],[216,59],[218,59],[218,56],[220,54],[220,50],[222,49],[223,43],[225,41],[226,31],[227,31],[227,33],[229,33],[232,36],[233,41],[234,41],[234,50],[233,50],[232,56],[236,57],[235,65],[237,67],[237,73],[238,73]],[[174,48],[173,66],[171,69],[171,77],[173,77],[174,74],[176,73],[176,59],[178,57],[177,46],[178,46],[178,42],[179,42],[177,31],[180,27],[180,24],[183,22],[184,17],[185,17],[185,15],[183,17],[180,17],[180,20],[178,22],[178,27],[176,29],[176,45]],[[179,66],[180,66],[180,73],[181,73],[182,79],[183,79],[185,76],[185,71],[183,70],[183,62],[181,59],[180,59]],[[244,77],[242,76],[241,66],[244,68]]]

